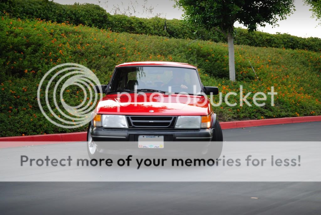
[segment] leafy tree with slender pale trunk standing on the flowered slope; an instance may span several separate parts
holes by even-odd
[[[184,11],[184,18],[208,30],[223,33],[228,40],[230,80],[235,81],[234,23],[239,21],[248,30],[266,24],[278,26],[277,21],[292,14],[294,0],[174,0]]]

